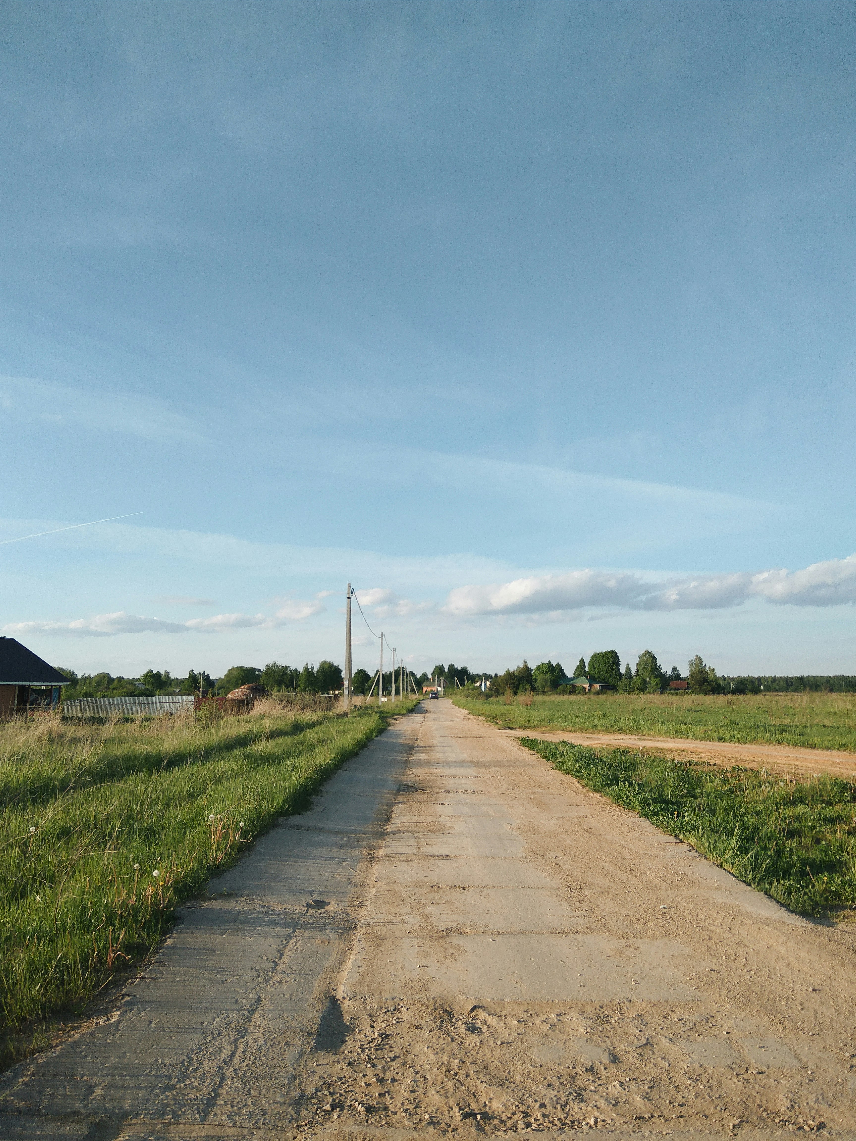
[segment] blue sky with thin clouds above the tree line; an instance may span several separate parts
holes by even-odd
[[[6,0],[3,632],[341,661],[350,580],[417,669],[856,673],[855,49],[837,2]]]

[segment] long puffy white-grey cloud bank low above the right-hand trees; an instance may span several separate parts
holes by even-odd
[[[778,606],[846,606],[856,602],[856,555],[814,563],[802,570],[761,570],[675,577],[665,583],[628,572],[574,570],[511,582],[459,586],[445,612],[459,617],[556,614],[591,607],[711,610],[761,599]]]

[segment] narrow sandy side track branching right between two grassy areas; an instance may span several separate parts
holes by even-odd
[[[572,741],[576,745],[608,745],[613,748],[644,748],[646,752],[683,753],[713,764],[741,764],[776,772],[830,774],[856,780],[856,753],[834,748],[801,748],[798,745],[740,744],[730,741],[688,741],[684,737],[637,737],[629,733],[554,733],[548,729],[503,729],[515,737]]]

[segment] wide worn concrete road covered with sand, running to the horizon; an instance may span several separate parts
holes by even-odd
[[[188,908],[0,1135],[856,1139],[856,934],[426,702]]]

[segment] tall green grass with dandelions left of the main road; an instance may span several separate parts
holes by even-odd
[[[0,725],[7,1060],[9,1031],[80,1008],[144,958],[181,900],[414,704]]]

